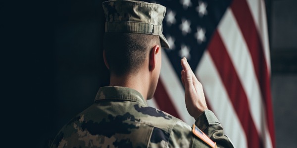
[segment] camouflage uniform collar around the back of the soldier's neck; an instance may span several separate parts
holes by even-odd
[[[135,89],[128,87],[107,86],[100,87],[96,95],[95,102],[98,100],[112,99],[112,100],[128,100],[134,101],[145,106],[148,106],[147,102],[143,98],[142,94]]]

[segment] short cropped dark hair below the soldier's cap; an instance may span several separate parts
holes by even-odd
[[[160,46],[160,38],[155,35],[105,33],[103,48],[110,73],[117,76],[137,73],[156,44]]]

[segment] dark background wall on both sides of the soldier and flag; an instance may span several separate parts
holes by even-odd
[[[278,148],[297,144],[297,1],[266,0]],[[0,3],[2,133],[8,146],[47,147],[108,85],[101,0]]]

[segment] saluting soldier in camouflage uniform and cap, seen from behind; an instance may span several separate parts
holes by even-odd
[[[233,148],[207,109],[201,83],[187,59],[181,59],[185,103],[196,119],[191,127],[148,107],[161,69],[166,8],[135,0],[102,3],[105,12],[103,58],[110,86],[101,87],[95,103],[74,117],[55,137],[52,148]]]

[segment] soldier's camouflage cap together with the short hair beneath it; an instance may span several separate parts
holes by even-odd
[[[103,44],[111,74],[137,73],[153,46],[169,48],[162,34],[164,6],[136,0],[109,0],[102,6]]]

